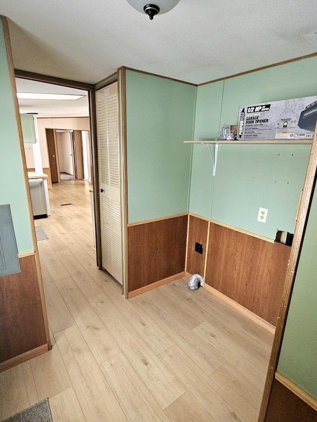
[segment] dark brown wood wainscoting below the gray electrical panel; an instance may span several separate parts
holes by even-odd
[[[35,255],[20,267],[0,282],[0,372],[48,351]]]

